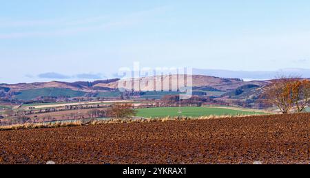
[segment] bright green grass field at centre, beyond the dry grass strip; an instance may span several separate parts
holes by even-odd
[[[238,111],[233,109],[223,108],[207,108],[207,107],[182,107],[182,113],[178,113],[178,107],[167,108],[149,108],[138,109],[137,116],[144,118],[161,118],[167,116],[191,116],[200,117],[207,115],[263,115],[264,112],[254,111]]]

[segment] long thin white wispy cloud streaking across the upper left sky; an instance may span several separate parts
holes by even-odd
[[[3,32],[0,39],[25,38],[41,36],[61,36],[90,32],[93,30],[110,30],[140,24],[147,15],[159,14],[167,10],[167,6],[133,12],[124,16],[93,16],[85,19],[56,19],[40,21],[0,21],[0,27],[30,27],[29,31]],[[36,27],[45,30],[36,30]]]

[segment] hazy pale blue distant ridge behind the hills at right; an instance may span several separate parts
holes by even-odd
[[[244,80],[267,80],[276,76],[300,76],[310,78],[310,69],[287,68],[277,71],[233,71],[221,69],[193,69],[194,75],[218,76],[220,78],[242,78]]]

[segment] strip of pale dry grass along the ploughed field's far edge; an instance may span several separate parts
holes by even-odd
[[[22,129],[43,129],[43,128],[59,128],[68,126],[87,126],[101,124],[124,124],[124,123],[143,123],[143,122],[167,122],[167,121],[186,121],[186,120],[211,120],[222,118],[244,118],[253,115],[208,115],[198,118],[192,117],[165,117],[165,118],[120,118],[109,120],[76,120],[72,122],[49,122],[49,123],[32,123],[32,124],[14,124],[10,126],[0,126],[0,131],[12,131]]]

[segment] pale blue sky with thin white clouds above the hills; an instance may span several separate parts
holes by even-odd
[[[310,69],[309,0],[0,0],[0,83]]]

